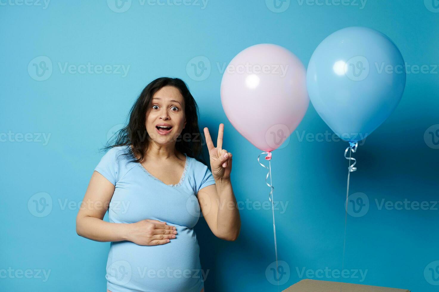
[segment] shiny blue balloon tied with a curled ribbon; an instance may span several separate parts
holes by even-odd
[[[309,99],[342,140],[365,139],[395,110],[406,84],[396,45],[381,32],[348,27],[314,51],[308,65]]]

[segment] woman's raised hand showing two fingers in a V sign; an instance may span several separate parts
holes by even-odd
[[[230,179],[230,172],[232,171],[232,154],[223,149],[223,134],[224,124],[221,123],[219,124],[218,139],[216,140],[215,147],[210,137],[209,129],[207,127],[204,128],[207,148],[209,149],[210,167],[215,179]]]

